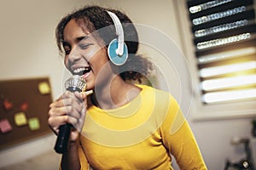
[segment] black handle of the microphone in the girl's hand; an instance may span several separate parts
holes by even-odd
[[[82,90],[77,88],[77,87],[69,87],[67,88],[68,91],[70,92],[81,92]],[[61,125],[59,127],[59,134],[58,137],[56,139],[56,143],[55,143],[55,151],[59,154],[63,154],[67,151],[67,145],[68,145],[68,139],[70,136],[70,128],[73,127],[72,124],[65,124],[65,125]]]

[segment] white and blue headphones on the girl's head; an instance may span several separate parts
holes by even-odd
[[[125,44],[123,27],[116,14],[110,11],[107,12],[113,20],[116,35],[118,36],[108,45],[108,57],[114,65],[124,65],[128,59],[128,48]]]

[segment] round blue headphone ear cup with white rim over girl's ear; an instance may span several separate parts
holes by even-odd
[[[114,65],[124,65],[128,59],[128,48],[124,42],[124,53],[122,55],[117,54],[118,48],[117,39],[113,39],[108,45],[108,57]]]

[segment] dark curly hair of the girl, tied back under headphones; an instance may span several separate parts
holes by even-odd
[[[148,59],[137,54],[139,45],[137,30],[128,16],[119,10],[99,6],[85,6],[71,14],[67,14],[55,29],[55,38],[59,51],[63,54],[63,31],[70,20],[75,20],[83,30],[86,28],[90,33],[96,31],[108,48],[109,42],[113,38],[116,38],[116,31],[113,20],[107,11],[111,11],[119,17],[124,30],[125,43],[128,48],[129,57],[125,65],[119,66],[120,71],[123,71],[120,73],[120,76],[125,81],[137,80],[141,82],[141,78],[147,77],[150,71],[153,70],[153,65]]]

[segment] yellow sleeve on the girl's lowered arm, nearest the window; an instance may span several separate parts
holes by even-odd
[[[181,170],[206,170],[195,136],[175,99],[171,97],[169,114],[160,127],[163,144],[175,157]]]

